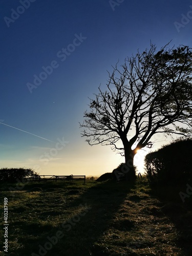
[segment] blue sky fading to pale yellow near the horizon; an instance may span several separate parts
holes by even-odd
[[[144,51],[192,47],[192,2],[0,0],[0,168],[40,175],[112,172],[124,158],[89,146],[79,122],[112,65]],[[152,151],[168,143],[153,138]],[[143,172],[140,150],[135,164]]]

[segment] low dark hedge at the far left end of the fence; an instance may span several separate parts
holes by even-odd
[[[31,168],[1,168],[0,182],[22,181],[23,178],[32,178],[38,176]]]

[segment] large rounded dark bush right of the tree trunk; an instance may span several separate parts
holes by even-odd
[[[185,185],[192,182],[192,140],[178,139],[147,154],[145,167],[153,185]]]

